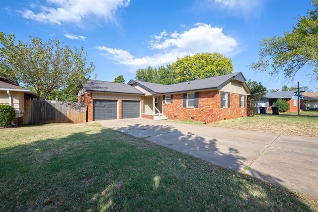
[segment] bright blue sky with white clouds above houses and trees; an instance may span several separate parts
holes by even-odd
[[[311,70],[295,82],[248,69],[258,60],[259,41],[283,36],[297,17],[311,9],[311,0],[1,0],[0,31],[28,42],[58,38],[83,46],[92,76],[126,83],[138,68],[173,63],[177,57],[219,52],[232,59],[234,72],[261,82],[267,89],[309,86]]]

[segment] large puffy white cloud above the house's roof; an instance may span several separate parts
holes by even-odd
[[[209,24],[197,23],[187,31],[167,33],[165,30],[159,35],[151,36],[149,49],[156,51],[151,56],[136,58],[123,49],[97,46],[102,55],[116,61],[118,64],[129,66],[132,70],[147,66],[157,67],[173,63],[177,58],[202,52],[218,52],[225,55],[235,54],[238,43],[223,33],[222,28]],[[158,53],[159,52],[159,53]]]

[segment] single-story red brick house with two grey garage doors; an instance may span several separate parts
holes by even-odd
[[[87,103],[88,121],[167,117],[211,123],[247,115],[245,81],[240,72],[173,85],[90,80],[79,91],[79,102]]]

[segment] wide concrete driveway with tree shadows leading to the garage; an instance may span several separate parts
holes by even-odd
[[[316,138],[145,118],[95,122],[318,198]]]

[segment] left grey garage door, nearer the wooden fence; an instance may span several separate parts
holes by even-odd
[[[94,100],[94,120],[116,119],[117,101]]]

